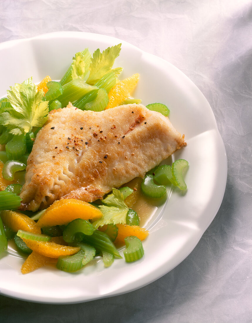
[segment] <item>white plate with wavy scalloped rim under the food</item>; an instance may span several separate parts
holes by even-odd
[[[75,274],[44,267],[22,275],[23,259],[8,249],[0,259],[2,295],[42,303],[77,303],[123,294],[163,276],[194,249],[217,213],[226,187],[227,159],[215,117],[199,89],[177,68],[161,58],[116,38],[79,32],[61,32],[0,44],[0,97],[9,86],[33,76],[60,79],[74,53],[89,47],[101,50],[122,43],[117,66],[121,78],[140,74],[135,97],[144,105],[162,102],[171,108],[170,120],[185,134],[187,147],[173,159],[189,162],[185,194],[172,192],[148,224],[143,242],[145,255],[127,264],[115,260],[109,268],[102,261]],[[164,206],[164,207],[163,207]],[[121,252],[122,254],[122,252]]]

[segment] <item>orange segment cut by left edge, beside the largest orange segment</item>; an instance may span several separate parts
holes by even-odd
[[[1,210],[0,216],[4,224],[15,232],[18,230],[24,230],[38,234],[41,233],[40,227],[37,226],[36,222],[25,214],[9,210]]]

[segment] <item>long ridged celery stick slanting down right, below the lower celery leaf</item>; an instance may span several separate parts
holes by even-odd
[[[110,240],[109,236],[104,232],[96,230],[92,235],[84,235],[82,241],[94,246],[96,249],[106,251],[115,257],[121,258],[121,255],[119,254],[115,245]]]

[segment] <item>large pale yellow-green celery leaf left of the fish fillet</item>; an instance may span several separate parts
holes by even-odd
[[[23,83],[16,83],[7,90],[11,109],[0,115],[0,124],[7,127],[14,135],[21,135],[32,130],[32,127],[42,127],[47,120],[48,101],[43,101],[43,90],[37,92],[37,86],[32,77]]]

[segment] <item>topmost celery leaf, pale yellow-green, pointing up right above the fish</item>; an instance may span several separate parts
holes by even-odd
[[[102,53],[98,48],[91,58],[90,74],[87,83],[94,85],[104,74],[109,72],[113,67],[116,57],[119,56],[121,51],[121,44],[108,47]]]

